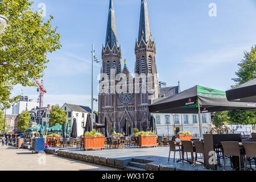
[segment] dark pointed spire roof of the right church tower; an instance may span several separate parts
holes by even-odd
[[[151,39],[150,23],[147,11],[147,0],[141,0],[141,18],[139,19],[139,38],[138,42],[148,42]]]

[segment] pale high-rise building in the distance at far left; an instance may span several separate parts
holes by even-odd
[[[39,103],[28,99],[28,96],[20,96],[19,102],[13,105],[12,114],[20,114],[24,110],[31,110],[33,108],[39,107]]]

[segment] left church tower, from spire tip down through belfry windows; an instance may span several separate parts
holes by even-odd
[[[106,31],[105,46],[102,46],[102,73],[110,75],[113,70],[115,74],[121,73],[121,47],[118,46],[117,28],[115,26],[115,11],[113,0],[109,2],[109,16]]]

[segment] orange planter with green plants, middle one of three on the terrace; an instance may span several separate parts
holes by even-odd
[[[134,135],[138,135],[139,137],[139,147],[156,147],[156,133],[152,131],[141,131],[135,133]]]

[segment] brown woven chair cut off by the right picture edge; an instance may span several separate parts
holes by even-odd
[[[245,147],[245,155],[246,155],[245,170],[246,170],[247,159],[249,159],[250,169],[251,169],[251,159],[254,159],[254,163],[255,163],[255,158],[256,158],[256,142],[242,142],[242,144],[243,144],[243,147]],[[255,166],[256,166],[256,163],[255,163]]]

